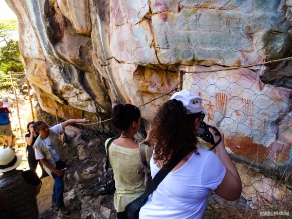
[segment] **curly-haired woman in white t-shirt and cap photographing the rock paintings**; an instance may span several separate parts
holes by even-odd
[[[228,201],[239,198],[242,185],[223,140],[217,146],[217,156],[197,147],[199,126],[205,115],[201,97],[188,90],[175,93],[158,110],[153,128],[157,143],[150,160],[152,177],[178,153],[183,154],[183,160],[148,197],[139,218],[202,219],[211,190]],[[216,128],[224,139],[222,130]],[[218,142],[220,136],[213,128],[209,131]]]

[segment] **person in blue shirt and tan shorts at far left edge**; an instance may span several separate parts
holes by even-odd
[[[11,128],[11,122],[10,122],[10,117],[9,117],[9,110],[7,109],[7,107],[3,106],[3,101],[0,100],[0,136],[1,136],[1,141],[3,143],[3,148],[6,147],[4,135],[7,138],[8,146],[10,148],[13,148],[12,147],[12,128]]]

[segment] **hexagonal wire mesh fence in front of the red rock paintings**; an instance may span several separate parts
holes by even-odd
[[[203,107],[208,111],[205,122],[223,130],[225,146],[243,186],[242,196],[237,201],[224,201],[211,192],[206,218],[291,217],[292,91],[283,88],[283,81],[288,81],[291,74],[284,75],[278,84],[270,85],[269,75],[280,72],[283,66],[260,77],[252,69],[261,66],[227,70],[202,66],[180,68],[184,71],[183,89],[202,97]],[[178,86],[173,87],[138,107],[146,118],[152,118],[178,89]],[[96,140],[99,146],[98,150],[91,148],[92,160],[103,160],[104,142],[119,133],[111,126],[110,118],[91,125],[97,129],[88,131],[85,139]],[[142,123],[141,132],[135,136],[137,142],[144,139],[150,127],[148,121]],[[200,141],[199,147],[210,145]]]

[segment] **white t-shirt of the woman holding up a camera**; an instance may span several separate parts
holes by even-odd
[[[168,173],[141,208],[142,219],[202,219],[210,190],[222,182],[226,169],[211,151],[198,149],[178,170]],[[151,175],[160,170],[150,160]]]

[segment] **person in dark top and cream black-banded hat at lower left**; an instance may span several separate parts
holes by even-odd
[[[37,219],[41,181],[33,170],[17,170],[21,156],[10,148],[0,150],[0,192],[15,219]],[[0,200],[0,203],[2,201]],[[5,212],[4,203],[0,212]]]

